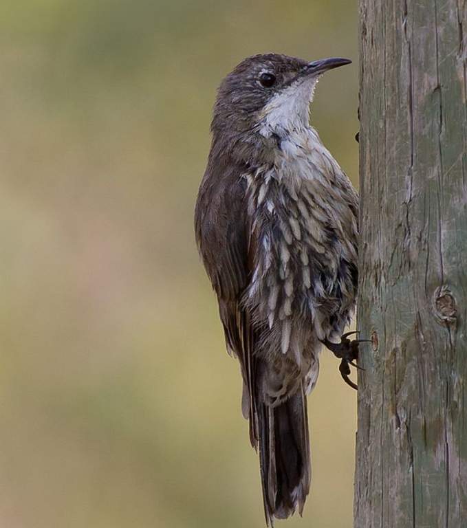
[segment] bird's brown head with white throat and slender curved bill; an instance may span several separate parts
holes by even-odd
[[[267,150],[271,138],[308,125],[318,79],[349,63],[348,58],[309,62],[279,54],[246,58],[219,87],[211,126],[215,139],[224,148],[250,150],[248,144],[256,143]]]

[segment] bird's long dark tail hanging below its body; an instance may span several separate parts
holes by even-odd
[[[283,404],[257,404],[259,463],[266,522],[285,519],[298,507],[302,514],[309,492],[311,463],[307,400],[303,386]]]

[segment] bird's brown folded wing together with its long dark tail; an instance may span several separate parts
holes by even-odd
[[[260,330],[243,307],[252,274],[255,242],[250,231],[245,184],[240,164],[213,164],[206,171],[195,210],[195,232],[204,266],[219,302],[226,346],[241,366],[243,415],[249,419],[250,442],[259,448],[265,518],[287,518],[303,511],[311,465],[306,396],[300,391],[275,408],[265,405],[261,377],[265,361],[256,349]],[[220,171],[220,174],[218,174]]]

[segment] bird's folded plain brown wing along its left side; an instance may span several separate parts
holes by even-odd
[[[204,267],[217,294],[227,349],[241,365],[243,415],[250,418],[250,441],[256,448],[254,328],[250,314],[241,306],[251,271],[250,225],[242,172],[241,166],[208,166],[196,203],[195,232]]]

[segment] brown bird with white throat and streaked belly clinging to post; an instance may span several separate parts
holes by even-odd
[[[195,206],[271,527],[302,514],[309,494],[306,397],[323,345],[355,388],[359,340],[343,330],[357,295],[358,194],[309,124],[319,78],[349,63],[273,53],[241,61],[217,91]]]

